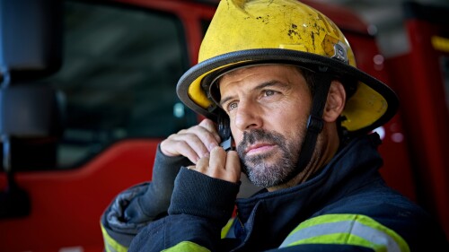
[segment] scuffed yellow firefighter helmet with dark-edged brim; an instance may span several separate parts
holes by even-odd
[[[183,74],[177,93],[190,109],[216,119],[211,83],[242,65],[326,67],[357,83],[342,112],[349,132],[367,132],[391,119],[396,94],[356,67],[348,40],[334,22],[296,0],[222,0],[199,50],[198,65]]]

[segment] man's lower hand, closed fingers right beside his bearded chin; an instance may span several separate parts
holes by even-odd
[[[215,147],[209,156],[202,157],[196,166],[189,166],[212,178],[219,178],[228,182],[240,181],[241,168],[237,152],[225,152],[222,147]]]

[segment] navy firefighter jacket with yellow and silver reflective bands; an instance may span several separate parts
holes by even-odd
[[[150,206],[161,203],[151,183],[111,204],[101,218],[106,250],[449,251],[432,216],[385,185],[378,143],[376,134],[355,139],[306,182],[237,200],[240,185],[181,168],[163,207]]]

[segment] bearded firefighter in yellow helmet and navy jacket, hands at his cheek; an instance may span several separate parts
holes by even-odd
[[[106,250],[449,251],[433,217],[379,174],[373,130],[398,99],[357,69],[326,16],[295,0],[223,0],[198,62],[177,93],[206,118],[163,140],[152,182],[103,213]],[[241,172],[263,188],[236,198]]]

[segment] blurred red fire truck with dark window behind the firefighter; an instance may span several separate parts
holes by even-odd
[[[376,129],[381,172],[449,237],[449,9],[403,4],[408,50],[387,57],[356,13],[304,2],[339,25],[361,69],[397,91],[399,113]],[[163,137],[200,119],[175,86],[216,4],[1,2],[0,251],[103,250],[105,207],[151,180]]]

